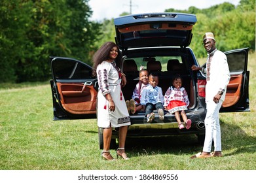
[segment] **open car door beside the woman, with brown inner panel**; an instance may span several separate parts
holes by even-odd
[[[97,78],[92,67],[71,58],[50,58],[54,120],[96,118]]]

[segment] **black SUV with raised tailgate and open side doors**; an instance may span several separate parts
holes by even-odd
[[[147,123],[145,112],[131,114],[127,140],[141,137],[168,137],[170,135],[197,135],[204,142],[204,118],[206,116],[206,76],[191,71],[198,65],[189,44],[196,16],[181,13],[134,14],[115,18],[115,41],[122,51],[120,69],[126,75],[124,99],[132,97],[139,80],[139,67],[145,66],[150,73],[157,73],[159,84],[165,93],[172,77],[177,73],[183,78],[183,87],[189,95],[187,117],[190,129],[179,129],[174,114],[165,111],[164,120]],[[248,48],[225,52],[229,62],[230,82],[221,112],[249,111]],[[92,78],[92,67],[71,58],[50,57],[52,69],[52,99],[54,120],[96,118],[97,78]],[[163,93],[163,95],[164,95]],[[100,114],[98,114],[100,115]],[[103,148],[102,129],[98,129],[100,148]],[[111,146],[114,148],[118,129],[113,129]]]

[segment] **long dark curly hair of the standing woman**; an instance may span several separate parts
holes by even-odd
[[[97,76],[96,69],[98,65],[102,63],[102,61],[106,61],[107,59],[109,59],[110,50],[115,46],[117,46],[115,42],[109,41],[102,44],[102,46],[97,50],[97,52],[92,57],[92,62],[93,62],[92,76]],[[117,50],[119,54],[117,55],[117,58],[115,59],[115,61],[116,61],[117,67],[119,67],[120,61],[122,59],[122,54],[119,50],[119,46],[117,46]]]

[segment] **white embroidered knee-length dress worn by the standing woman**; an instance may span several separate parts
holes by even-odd
[[[97,97],[97,120],[98,127],[121,127],[130,125],[130,116],[126,108],[124,97],[120,86],[120,73],[117,71],[115,61],[109,63],[103,61],[98,65],[96,72],[99,82]],[[105,95],[111,94],[115,103],[115,111],[109,111],[109,101]]]

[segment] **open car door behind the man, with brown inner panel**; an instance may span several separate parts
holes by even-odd
[[[220,112],[249,111],[248,48],[225,52],[229,63],[230,81]]]

